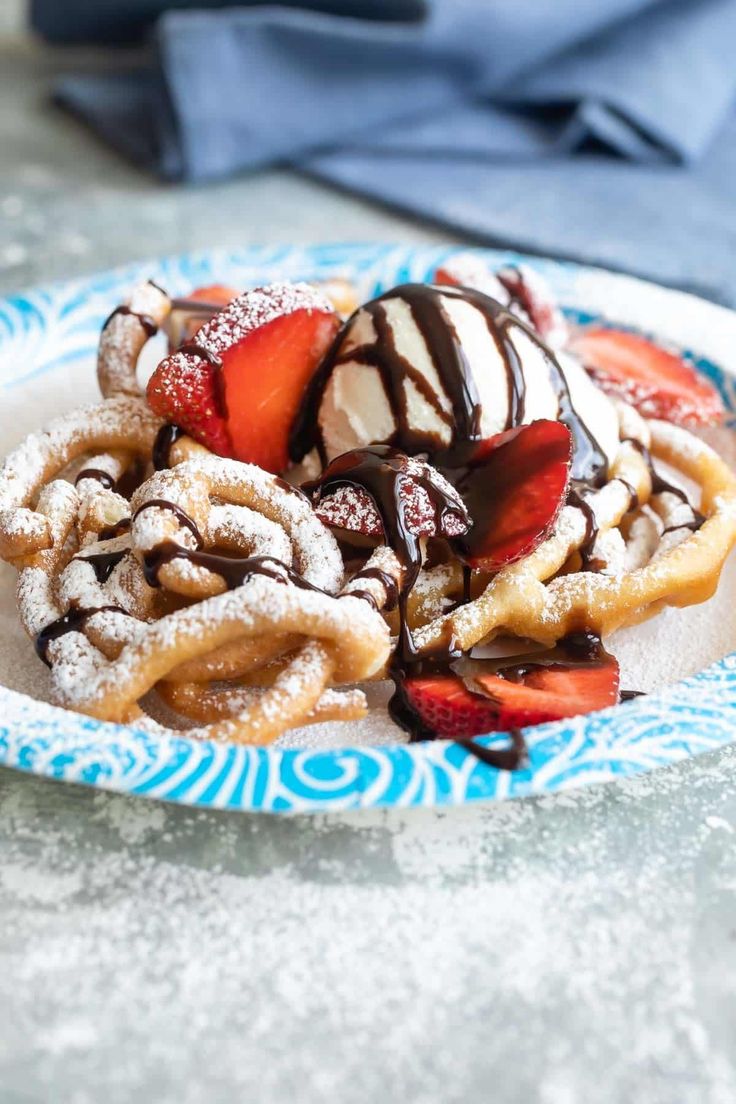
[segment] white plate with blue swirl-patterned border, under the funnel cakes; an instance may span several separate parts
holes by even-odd
[[[0,452],[60,408],[94,397],[100,325],[126,290],[151,277],[174,294],[196,285],[248,286],[281,278],[345,275],[367,298],[382,288],[429,278],[456,250],[385,245],[277,246],[209,252],[132,265],[0,300]],[[600,269],[480,251],[493,265],[524,259],[552,283],[576,318],[606,318],[692,353],[736,408],[736,315],[681,293]],[[12,571],[0,565],[8,597]],[[730,613],[729,613],[730,616]],[[7,626],[7,628],[4,627]],[[23,645],[0,623],[3,648]],[[15,656],[15,652],[19,656]],[[13,667],[13,662],[15,667]],[[34,669],[34,680],[42,672]],[[35,683],[34,683],[35,684]],[[250,749],[154,736],[39,702],[0,686],[0,763],[86,783],[213,808],[269,813],[459,805],[605,782],[663,766],[733,739],[736,654],[630,703],[526,733],[530,767],[513,774],[479,763],[457,744]],[[488,737],[501,744],[503,737]]]

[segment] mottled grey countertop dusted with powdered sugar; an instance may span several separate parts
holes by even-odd
[[[286,171],[179,190],[0,52],[0,290],[448,235]],[[0,1098],[736,1100],[736,753],[446,813],[196,813],[0,771]]]

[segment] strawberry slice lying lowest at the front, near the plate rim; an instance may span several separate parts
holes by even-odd
[[[521,670],[513,680],[502,672],[478,675],[470,684],[452,673],[409,677],[404,698],[426,736],[448,740],[558,721],[618,702],[612,656],[585,666],[530,664]]]

